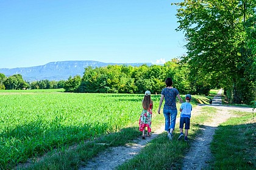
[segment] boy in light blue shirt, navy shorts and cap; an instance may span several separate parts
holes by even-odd
[[[185,141],[188,141],[188,129],[190,129],[190,117],[191,117],[191,110],[192,105],[190,104],[191,95],[187,94],[185,96],[186,102],[182,103],[180,106],[180,136],[178,140],[182,140],[183,134],[183,126],[185,123]]]

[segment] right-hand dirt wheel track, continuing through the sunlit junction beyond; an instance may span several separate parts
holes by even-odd
[[[232,115],[229,114],[229,110],[252,111],[252,108],[246,107],[221,106],[221,93],[222,89],[219,90],[218,95],[213,98],[213,103],[210,106],[218,109],[218,113],[212,121],[204,123],[204,126],[201,127],[202,134],[198,135],[193,143],[191,143],[190,151],[188,151],[183,159],[183,170],[207,168],[208,161],[212,158],[210,143],[213,140],[213,135],[219,124],[224,123],[227,119],[232,117]],[[205,104],[201,104],[201,106],[204,107]]]

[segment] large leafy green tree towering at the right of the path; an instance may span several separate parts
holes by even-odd
[[[255,99],[255,0],[185,0],[175,3],[197,80],[224,87],[233,103]]]

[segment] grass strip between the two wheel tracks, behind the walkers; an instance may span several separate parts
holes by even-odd
[[[204,114],[204,113],[207,114]],[[216,110],[213,107],[204,107],[202,114],[194,117],[189,131],[190,140],[194,140],[200,132],[199,127],[204,121],[211,119]],[[209,114],[210,113],[210,114]],[[176,128],[179,126],[176,124]],[[185,152],[190,148],[190,142],[178,141],[179,131],[174,132],[174,140],[169,141],[163,133],[154,138],[131,160],[117,169],[180,169]]]

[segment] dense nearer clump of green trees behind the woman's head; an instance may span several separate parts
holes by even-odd
[[[144,64],[139,67],[125,65],[94,69],[87,67],[79,86],[79,92],[143,94],[144,91],[150,90],[152,94],[160,94],[165,87],[165,79],[171,77],[174,87],[180,93],[208,94],[209,86],[204,92],[201,92],[202,85],[197,82],[194,83],[194,87],[191,86],[188,78],[189,72],[187,66],[180,65],[177,59],[168,61],[163,66]]]

